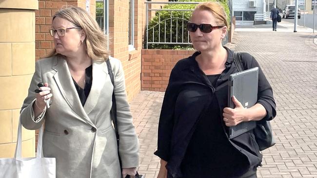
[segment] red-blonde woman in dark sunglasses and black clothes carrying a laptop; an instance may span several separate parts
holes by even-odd
[[[192,56],[178,61],[167,86],[158,125],[158,178],[257,178],[262,155],[253,130],[228,139],[229,126],[271,120],[276,115],[273,91],[259,70],[258,102],[228,107],[229,75],[238,72],[233,51],[221,45],[228,22],[218,2],[200,3],[187,30]],[[245,69],[259,67],[241,53]]]

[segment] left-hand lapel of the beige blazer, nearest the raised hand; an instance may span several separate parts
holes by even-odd
[[[94,125],[81,106],[66,60],[59,57],[57,65],[53,66],[52,69],[56,71],[54,79],[69,107],[71,107],[88,124]]]

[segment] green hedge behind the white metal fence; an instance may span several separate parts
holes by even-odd
[[[216,0],[196,0],[197,2]],[[192,0],[178,0],[178,2],[192,2]],[[225,12],[230,22],[229,7],[227,0],[218,0],[224,6]],[[163,9],[195,9],[197,4],[168,4]],[[172,19],[171,18],[172,13]],[[186,24],[190,20],[192,11],[157,11],[149,22],[148,41],[149,42],[190,42]],[[184,20],[182,20],[184,19]],[[158,23],[160,21],[160,23]],[[172,23],[172,27],[171,27]],[[166,29],[165,29],[166,25]],[[160,29],[160,30],[158,30]],[[154,36],[154,40],[153,40]],[[159,36],[159,38],[158,38]],[[166,36],[166,38],[165,38]],[[146,42],[145,42],[146,43]],[[145,44],[146,45],[146,44]],[[145,46],[146,48],[146,46]],[[149,49],[192,49],[188,44],[149,44]]]

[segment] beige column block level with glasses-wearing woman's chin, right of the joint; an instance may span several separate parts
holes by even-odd
[[[12,75],[33,74],[35,42],[12,44]]]

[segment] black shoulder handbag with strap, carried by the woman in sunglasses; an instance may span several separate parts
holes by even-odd
[[[244,71],[243,63],[241,60],[240,53],[233,53],[234,63],[238,71]],[[275,139],[273,138],[272,126],[270,121],[260,120],[257,121],[256,128],[253,129],[256,142],[260,151],[265,150],[273,145],[275,145]]]

